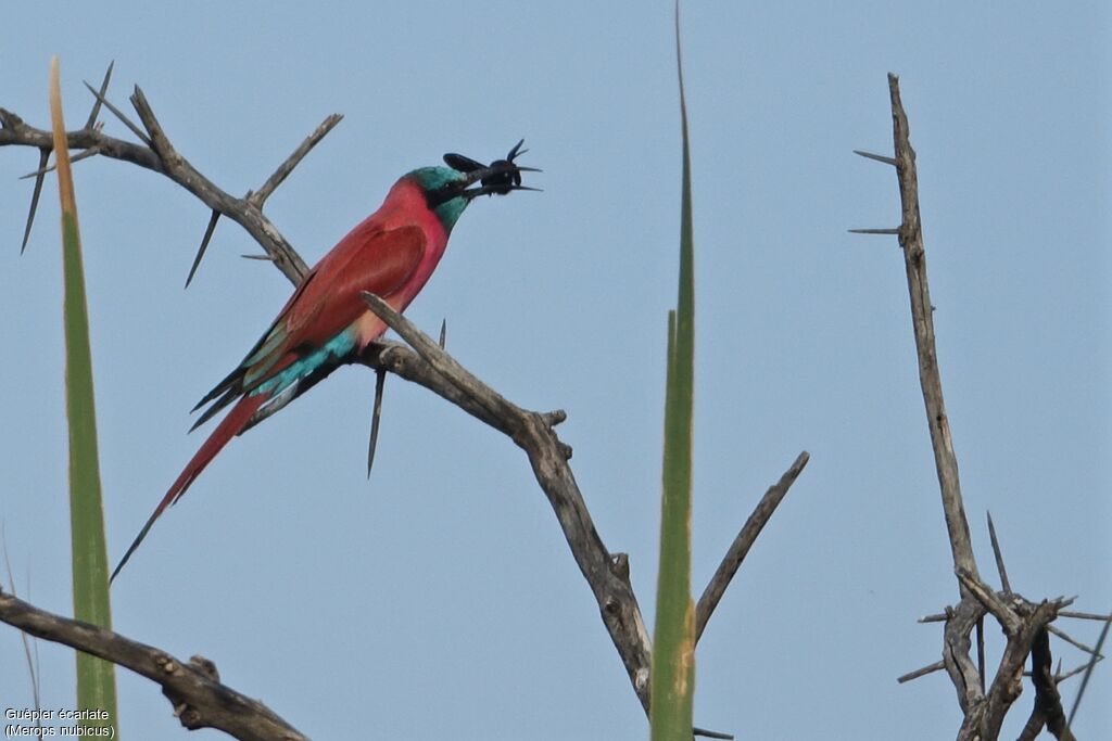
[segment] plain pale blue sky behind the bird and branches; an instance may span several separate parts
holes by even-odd
[[[696,539],[702,589],[757,497],[812,461],[712,619],[696,721],[761,739],[939,739],[959,723],[915,619],[956,597],[894,238],[885,73],[919,152],[939,354],[982,571],[996,521],[1013,587],[1112,609],[1110,59],[1105,3],[688,3],[695,177]],[[56,18],[58,20],[56,20]],[[54,28],[57,26],[57,29]],[[110,60],[179,151],[257,188],[328,113],[344,122],[268,204],[314,262],[394,180],[520,137],[543,193],[475,203],[408,316],[512,400],[563,408],[599,532],[652,620],[665,314],[679,149],[668,2],[13,3],[0,106],[71,124]],[[107,128],[128,136],[113,119]],[[36,152],[0,150],[0,519],[20,589],[69,605],[53,181],[27,254]],[[221,222],[132,166],[77,167],[115,560],[200,443],[188,410],[290,292]],[[201,653],[318,739],[643,739],[595,602],[520,451],[396,378],[373,480],[374,377],[338,372],[235,441],[113,589],[116,628]],[[29,577],[28,577],[29,574]],[[1098,627],[1065,621],[1094,641]],[[999,650],[999,642],[991,642]],[[0,704],[30,691],[0,629]],[[40,644],[44,702],[72,653]],[[1068,667],[1082,657],[1054,641]],[[990,662],[997,660],[990,655]],[[1080,738],[1112,728],[1102,668]],[[119,679],[123,738],[185,738]],[[1072,701],[1076,683],[1066,685]],[[1030,688],[1005,727],[1014,738]],[[198,739],[216,739],[208,731]],[[222,738],[222,737],[221,737]]]

